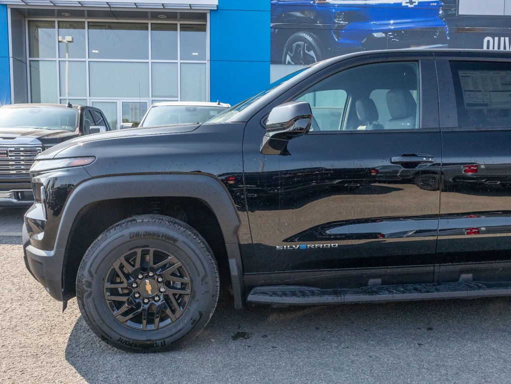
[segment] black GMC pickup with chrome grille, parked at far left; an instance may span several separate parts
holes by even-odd
[[[55,144],[109,131],[103,112],[71,104],[12,104],[0,108],[0,207],[34,202],[29,169],[35,157]]]

